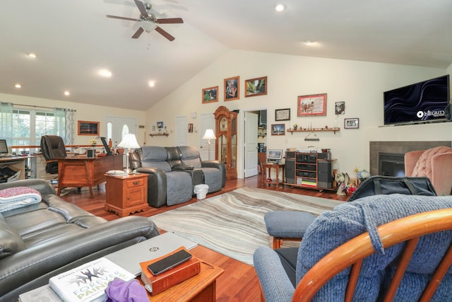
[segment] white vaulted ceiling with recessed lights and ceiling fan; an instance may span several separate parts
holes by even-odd
[[[0,93],[146,110],[228,50],[452,63],[450,0],[282,0],[282,12],[275,1],[151,1],[157,18],[184,20],[159,25],[172,42],[155,30],[132,39],[145,21],[106,17],[140,18],[133,0],[2,1]]]

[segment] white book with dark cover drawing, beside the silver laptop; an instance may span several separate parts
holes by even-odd
[[[50,278],[49,285],[66,302],[105,301],[115,278],[130,281],[135,275],[102,257]]]

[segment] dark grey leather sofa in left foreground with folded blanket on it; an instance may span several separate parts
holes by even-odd
[[[1,209],[1,302],[18,301],[19,294],[47,284],[56,274],[159,234],[145,217],[107,221],[94,216],[59,198],[45,180],[0,184],[0,190],[11,187],[35,189],[42,201]]]

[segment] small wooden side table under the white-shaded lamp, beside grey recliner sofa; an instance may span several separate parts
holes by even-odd
[[[148,174],[124,176],[106,174],[105,177],[107,178],[105,210],[114,211],[123,217],[149,209]]]

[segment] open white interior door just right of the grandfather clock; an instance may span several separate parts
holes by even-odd
[[[245,178],[257,175],[257,130],[258,115],[253,112],[245,113]]]

